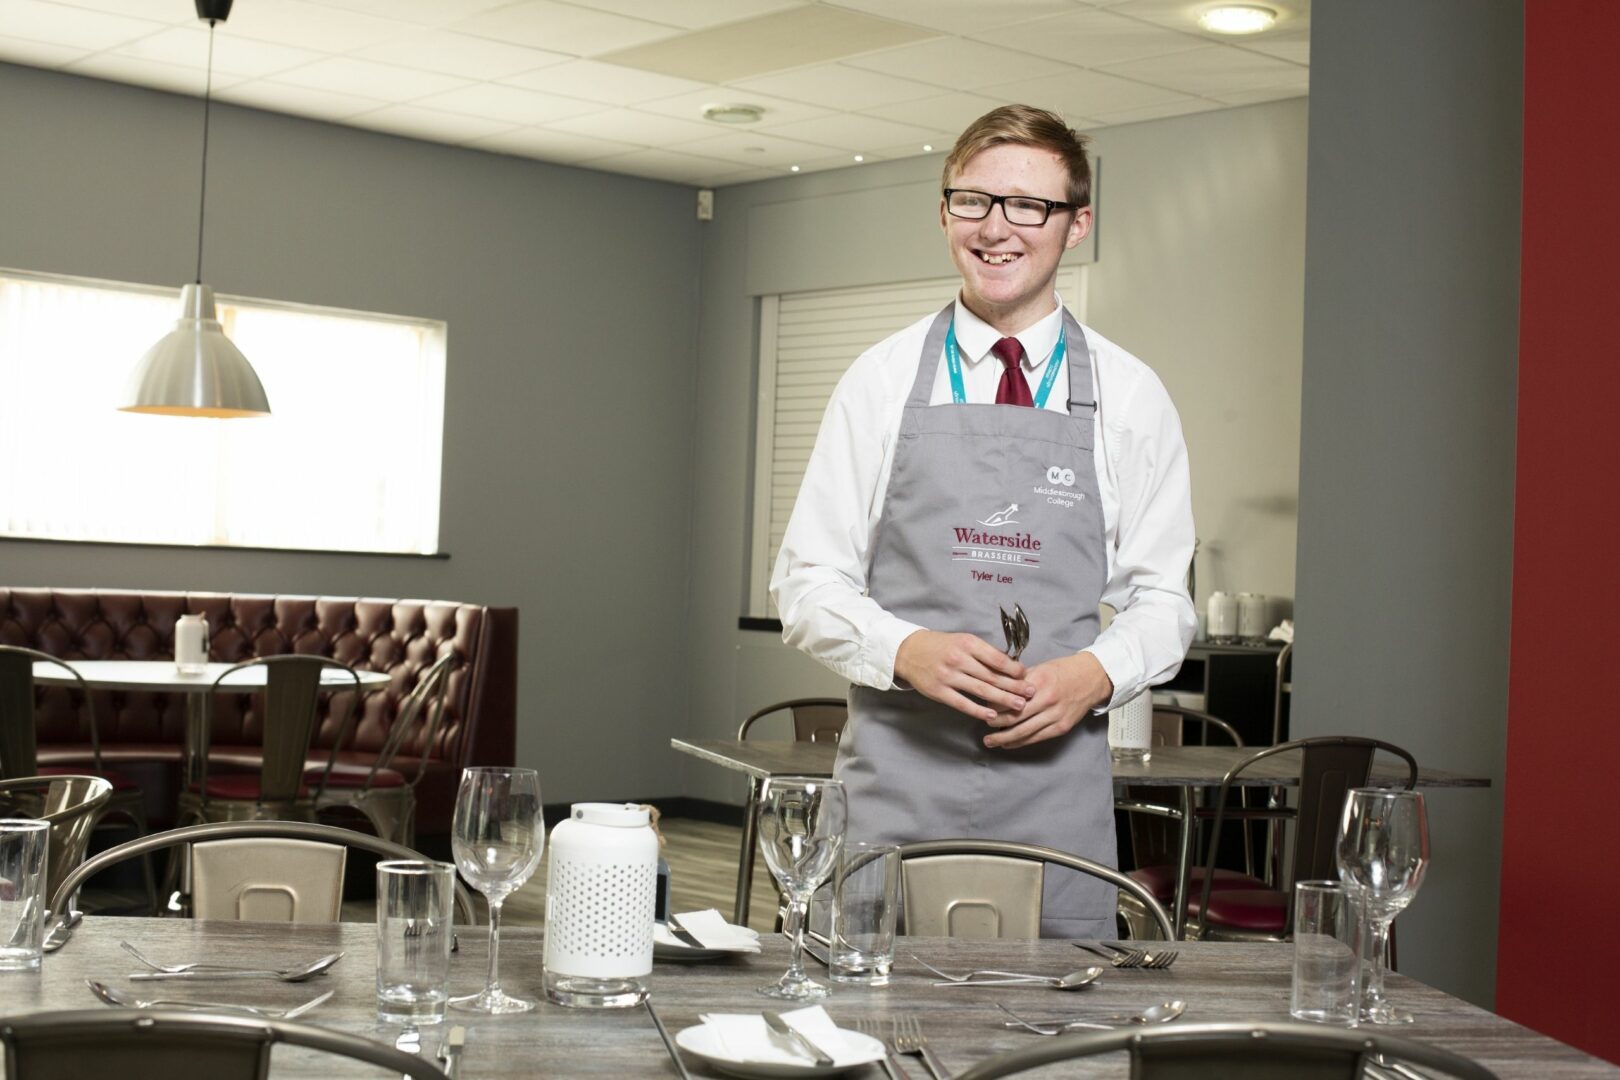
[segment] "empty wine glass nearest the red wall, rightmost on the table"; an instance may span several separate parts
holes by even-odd
[[[1413,902],[1429,866],[1429,816],[1422,795],[1358,787],[1345,800],[1338,829],[1338,876],[1362,889],[1372,925],[1372,967],[1361,997],[1367,1023],[1411,1023],[1413,1015],[1383,996],[1390,923]]]

